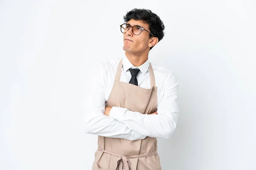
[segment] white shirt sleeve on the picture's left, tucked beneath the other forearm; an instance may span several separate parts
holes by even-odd
[[[83,119],[85,133],[122,138],[128,140],[144,139],[146,136],[129,129],[124,123],[106,116],[104,70],[102,64],[96,64],[90,75],[84,79]]]

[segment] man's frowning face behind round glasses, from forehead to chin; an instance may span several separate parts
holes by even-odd
[[[127,22],[131,26],[139,25],[149,31],[149,26],[147,23],[143,23],[142,20],[133,20]],[[147,48],[149,50],[149,33],[147,31],[142,31],[140,35],[134,35],[131,31],[131,28],[123,34],[124,38],[124,46],[123,50],[127,51],[128,53],[141,53],[145,51]]]

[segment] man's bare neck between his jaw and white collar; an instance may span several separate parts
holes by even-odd
[[[129,59],[129,61],[134,65],[135,67],[139,67],[140,65],[143,65],[147,59],[148,59],[148,53],[147,54],[131,54],[125,51],[126,57]]]

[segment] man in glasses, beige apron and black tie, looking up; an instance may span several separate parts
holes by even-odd
[[[125,55],[96,64],[85,103],[85,132],[98,135],[93,170],[161,170],[156,138],[175,131],[178,81],[148,60],[164,36],[160,18],[135,8],[124,21]]]

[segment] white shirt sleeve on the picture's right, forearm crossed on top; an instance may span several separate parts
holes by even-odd
[[[157,114],[148,115],[113,107],[109,116],[124,123],[129,129],[142,135],[168,139],[175,131],[179,106],[178,84],[175,74],[170,73],[164,80],[164,94],[157,107]]]

